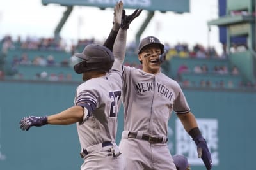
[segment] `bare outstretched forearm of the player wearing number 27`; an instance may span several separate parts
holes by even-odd
[[[83,120],[83,108],[81,106],[74,106],[67,110],[47,117],[48,124],[52,125],[69,125]]]

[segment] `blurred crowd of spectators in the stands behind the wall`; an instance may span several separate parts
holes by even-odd
[[[63,39],[54,39],[54,38],[35,38],[35,37],[27,37],[22,40],[20,36],[18,36],[15,40],[13,40],[12,36],[4,36],[0,41],[1,43],[1,56],[0,57],[0,78],[4,77],[4,57],[12,57],[10,64],[10,69],[15,77],[22,78],[22,73],[19,73],[19,66],[42,66],[42,67],[72,67],[74,64],[78,62],[77,57],[74,56],[74,53],[81,52],[84,49],[84,46],[90,43],[102,43],[97,42],[95,39],[80,39],[77,43],[72,44],[70,46],[67,45]],[[171,60],[172,57],[180,57],[180,58],[190,58],[190,59],[227,59],[225,53],[218,54],[214,47],[205,48],[205,46],[196,44],[193,48],[189,48],[186,43],[177,43],[176,45],[170,45],[169,43],[164,44],[165,50],[168,51],[166,54],[166,60]],[[225,46],[223,46],[223,51],[225,52]],[[58,52],[67,52],[68,56],[61,60],[55,60],[54,55],[35,55],[33,57],[28,57],[28,53],[22,52],[19,55],[8,56],[8,52],[10,50],[40,50],[40,51],[58,51]],[[231,51],[236,52],[236,50],[246,50],[246,46],[233,45]],[[136,43],[131,42],[127,44],[127,53],[136,56],[138,52]],[[10,60],[10,59],[8,59]],[[1,64],[2,63],[2,64]],[[6,64],[6,63],[4,63]],[[2,65],[2,68],[1,68]],[[141,64],[139,62],[125,62],[125,66],[131,66],[136,68],[141,68]],[[182,73],[195,73],[195,74],[219,74],[219,75],[239,75],[239,70],[236,66],[229,68],[225,65],[223,66],[214,66],[209,68],[206,64],[202,66],[195,66],[193,69],[189,69],[186,64],[182,64],[179,66],[177,70],[177,81],[180,82],[182,86],[190,87],[195,86],[195,82],[189,80],[182,80]],[[63,81],[72,80],[72,75],[63,75],[63,73],[47,73],[46,71],[42,73],[35,73],[35,78],[40,78],[43,80],[49,81]],[[211,82],[209,80],[200,81],[201,87],[236,87],[232,81],[226,83],[224,81],[219,82]],[[239,86],[248,86],[254,87],[254,85],[250,83],[241,82]],[[256,86],[256,85],[255,85]]]

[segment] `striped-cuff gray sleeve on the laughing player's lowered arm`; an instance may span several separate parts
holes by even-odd
[[[182,92],[182,89],[178,85],[178,94],[173,102],[173,111],[177,114],[183,114],[183,113],[189,113],[190,108],[188,105],[188,102],[186,100],[186,97],[184,96],[184,93]]]

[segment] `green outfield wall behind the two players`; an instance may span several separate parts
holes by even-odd
[[[45,125],[19,129],[26,115],[49,115],[73,105],[79,83],[0,81],[0,169],[74,170],[79,157],[76,125]],[[184,89],[212,153],[214,170],[252,169],[256,152],[255,90]],[[118,138],[122,132],[122,108]],[[205,169],[196,146],[175,113],[169,122],[172,154],[188,157],[191,169]]]

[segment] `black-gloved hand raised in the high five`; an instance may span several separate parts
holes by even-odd
[[[121,28],[122,29],[129,29],[129,26],[132,22],[132,20],[134,20],[136,17],[138,17],[141,13],[142,9],[136,9],[131,15],[125,15],[125,10],[123,10],[123,14],[122,14],[122,21],[121,21]]]

